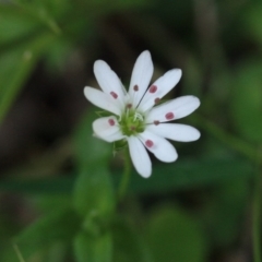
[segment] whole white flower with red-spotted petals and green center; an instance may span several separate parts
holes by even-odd
[[[148,87],[153,62],[151,53],[143,51],[134,64],[128,93],[106,62],[97,60],[94,73],[103,91],[87,86],[85,97],[111,114],[93,122],[95,135],[107,142],[127,140],[132,163],[142,177],[152,172],[146,148],[159,160],[170,163],[178,155],[166,139],[189,142],[200,138],[200,132],[190,126],[166,123],[194,111],[200,106],[199,98],[182,96],[157,105],[179,82],[180,69],[168,71]]]

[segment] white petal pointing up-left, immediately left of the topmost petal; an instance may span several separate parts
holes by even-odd
[[[123,106],[123,85],[110,67],[105,61],[97,60],[94,63],[94,73],[102,90],[110,96],[114,92],[117,95],[116,103]]]

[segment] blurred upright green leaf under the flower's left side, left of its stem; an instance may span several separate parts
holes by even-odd
[[[74,206],[82,216],[108,217],[115,209],[115,195],[108,171],[110,146],[94,138],[94,111],[84,116],[75,133],[75,155],[80,177],[74,187]],[[90,217],[90,218],[88,218]],[[93,219],[93,218],[92,218]]]

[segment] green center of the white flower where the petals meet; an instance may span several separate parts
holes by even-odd
[[[144,116],[141,112],[127,107],[119,124],[123,134],[128,136],[136,135],[138,133],[142,133],[145,129]]]

